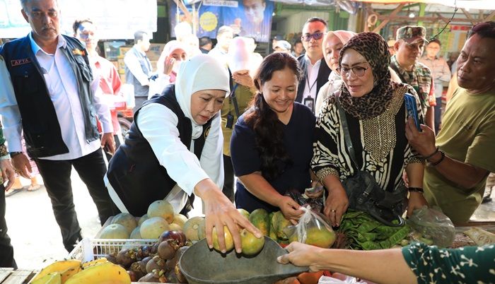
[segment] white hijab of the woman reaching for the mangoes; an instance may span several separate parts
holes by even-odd
[[[199,90],[224,90],[226,95],[231,91],[226,67],[208,54],[184,61],[175,81],[175,97],[182,112],[191,119],[193,139],[203,132],[203,126],[194,122],[191,115],[191,96]]]

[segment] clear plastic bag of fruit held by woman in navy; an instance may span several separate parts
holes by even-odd
[[[297,225],[286,227],[284,230],[289,236],[289,241],[325,249],[332,247],[335,242],[335,232],[323,215],[311,210],[311,206],[302,206],[301,209],[304,213]]]

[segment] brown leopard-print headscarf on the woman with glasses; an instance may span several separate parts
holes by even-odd
[[[375,32],[361,32],[347,42],[339,54],[339,65],[347,49],[359,52],[371,66],[374,85],[370,93],[362,97],[352,97],[345,84],[342,84],[339,101],[344,110],[357,119],[371,119],[385,112],[392,99],[390,81],[390,52],[387,42]]]

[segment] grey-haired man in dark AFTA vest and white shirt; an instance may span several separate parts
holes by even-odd
[[[0,49],[14,90],[0,101],[4,134],[13,166],[29,178],[29,160],[21,152],[23,131],[28,154],[52,201],[64,247],[71,252],[82,238],[71,189],[73,166],[88,187],[102,225],[118,213],[103,182],[106,166],[101,147],[115,151],[110,111],[100,103],[98,78],[93,78],[86,49],[59,32],[57,1],[21,4],[32,31]],[[95,114],[103,124],[101,141]]]

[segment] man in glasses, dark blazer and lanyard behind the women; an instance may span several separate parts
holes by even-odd
[[[315,112],[318,91],[328,81],[330,68],[323,58],[322,41],[327,32],[327,22],[322,18],[309,18],[303,26],[301,40],[305,54],[298,57],[303,70],[303,78],[299,82],[296,102],[301,102]]]

